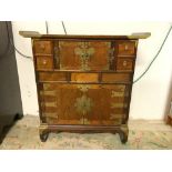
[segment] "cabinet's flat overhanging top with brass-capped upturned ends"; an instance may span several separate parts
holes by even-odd
[[[24,38],[33,39],[146,39],[151,36],[150,32],[132,33],[130,36],[81,36],[81,34],[41,34],[37,31],[19,31],[19,34]]]

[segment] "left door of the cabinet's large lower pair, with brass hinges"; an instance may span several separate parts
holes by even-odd
[[[82,92],[72,84],[44,83],[40,91],[41,112],[48,124],[83,124],[74,102]]]

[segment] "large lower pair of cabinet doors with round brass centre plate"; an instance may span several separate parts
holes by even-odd
[[[49,124],[121,124],[128,109],[127,85],[44,83],[41,110]]]

